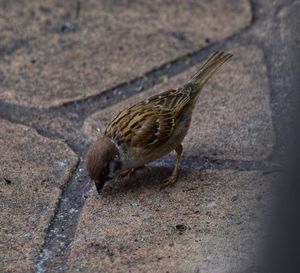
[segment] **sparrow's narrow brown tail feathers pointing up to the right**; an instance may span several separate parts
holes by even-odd
[[[230,53],[225,53],[221,51],[216,51],[211,54],[196,74],[187,82],[187,84],[196,84],[196,90],[192,92],[201,90],[203,85],[220,69],[220,67],[226,63],[233,55]]]

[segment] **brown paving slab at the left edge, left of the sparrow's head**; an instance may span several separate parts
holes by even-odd
[[[77,156],[28,127],[0,128],[0,271],[30,272]]]

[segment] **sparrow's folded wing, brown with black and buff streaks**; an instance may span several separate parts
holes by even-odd
[[[120,144],[155,148],[168,140],[189,96],[175,90],[141,101],[121,111],[105,134]]]

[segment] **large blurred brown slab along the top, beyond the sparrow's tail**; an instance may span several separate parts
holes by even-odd
[[[0,99],[83,99],[229,37],[251,17],[246,0],[1,1]]]

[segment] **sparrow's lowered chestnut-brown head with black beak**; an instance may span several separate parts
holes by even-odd
[[[105,182],[112,179],[121,167],[119,151],[110,138],[100,137],[90,146],[86,168],[89,177],[95,182],[98,194]]]

